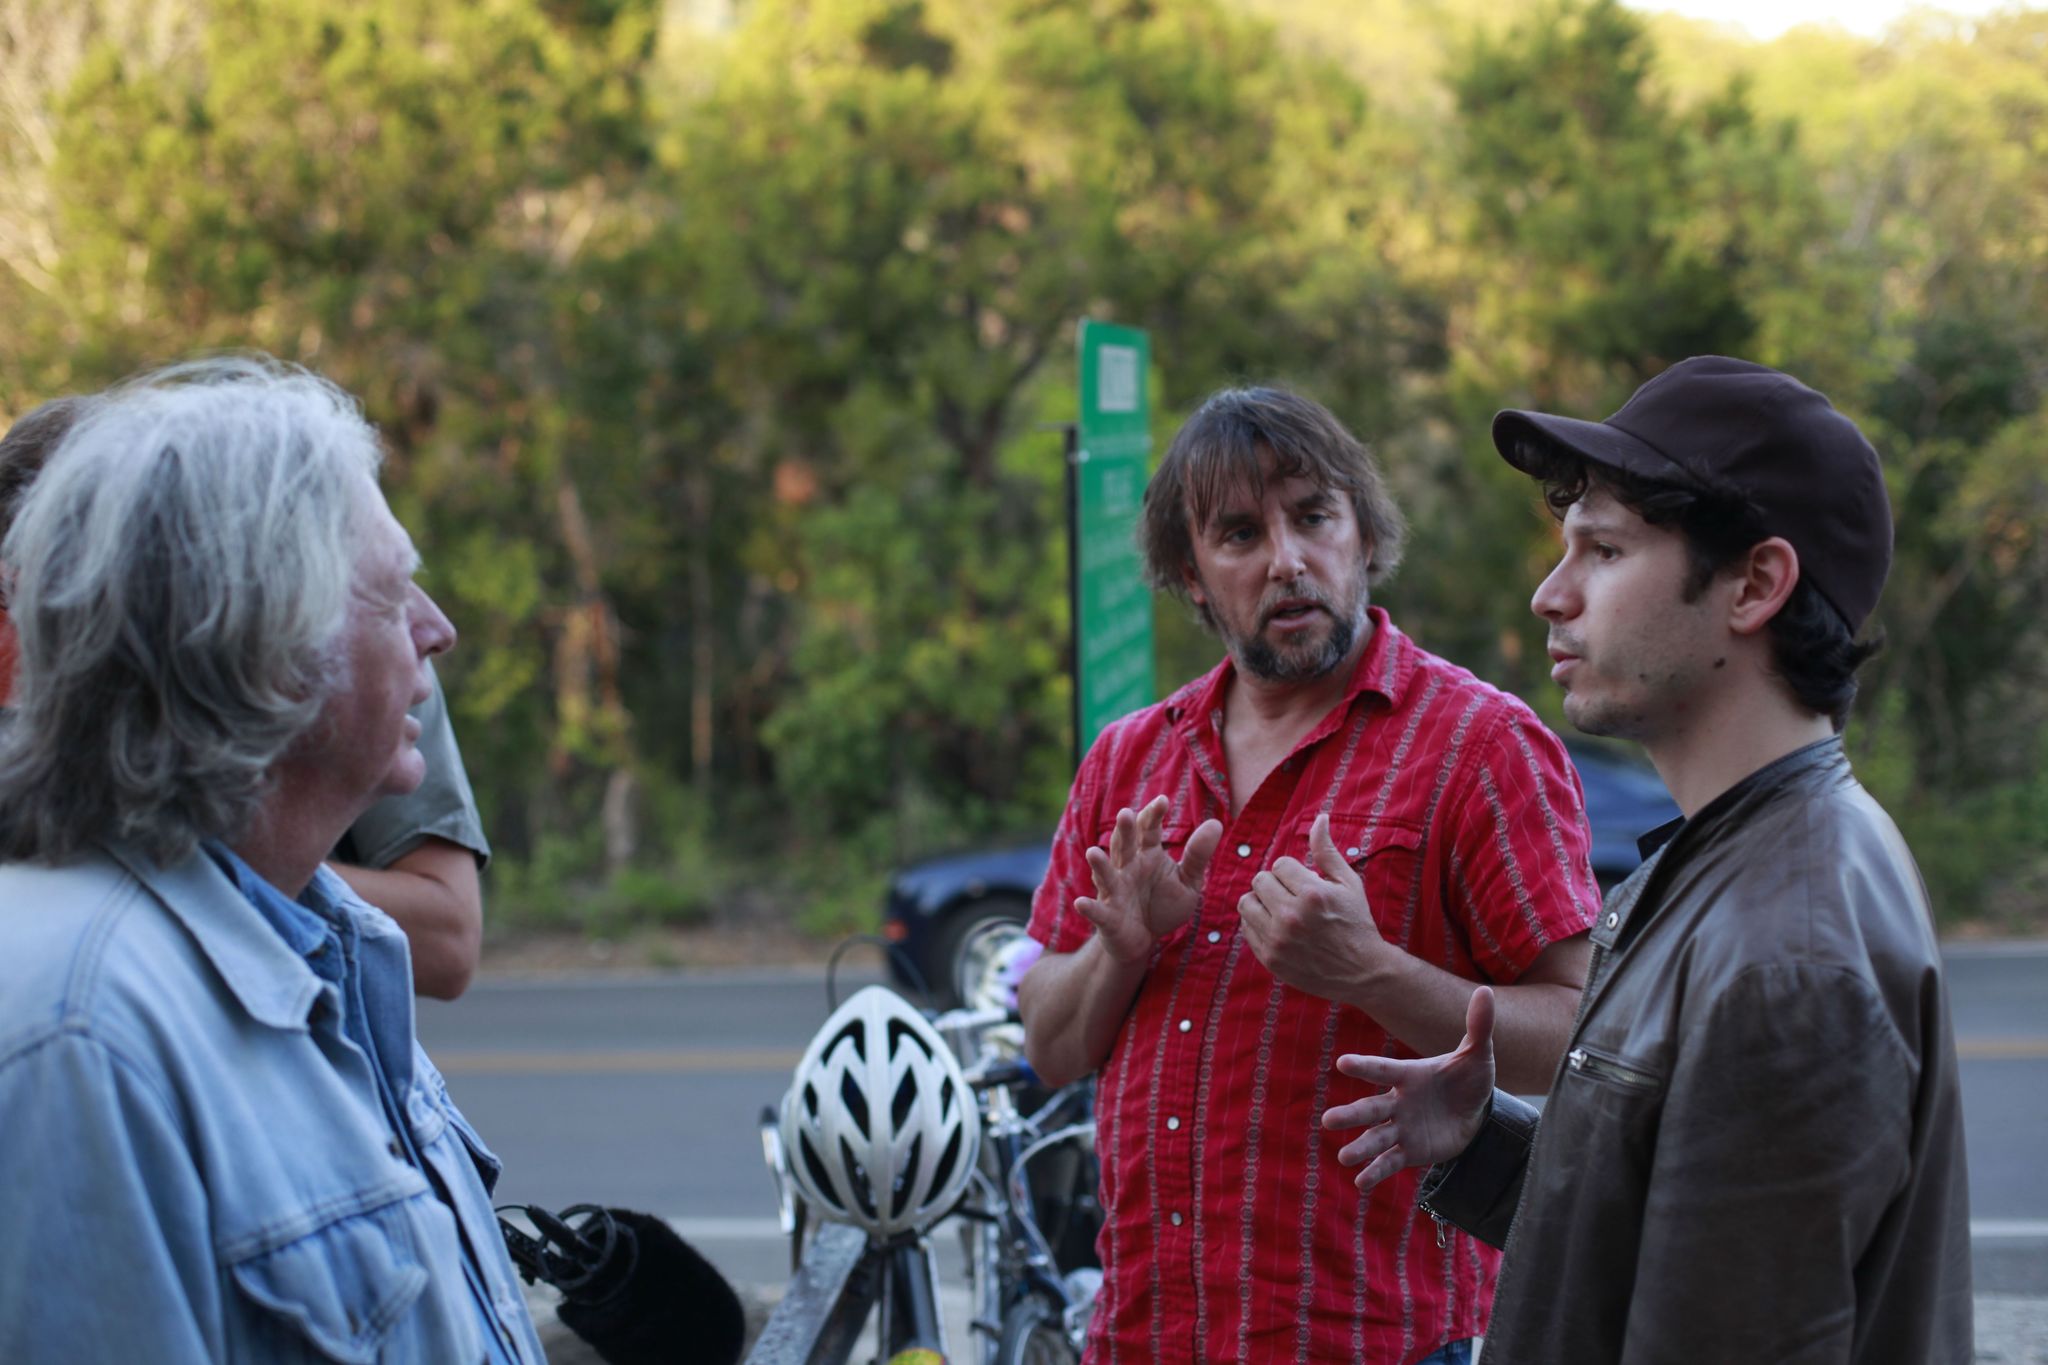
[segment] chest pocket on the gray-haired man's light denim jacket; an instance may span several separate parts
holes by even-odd
[[[227,1265],[250,1361],[465,1361],[483,1353],[455,1218],[432,1193],[348,1212]],[[442,1267],[434,1283],[426,1267]]]

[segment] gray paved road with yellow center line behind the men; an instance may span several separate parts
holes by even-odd
[[[2048,1297],[2048,943],[1948,954],[1980,1293]],[[842,972],[842,997],[872,980]],[[821,972],[483,980],[420,1036],[506,1160],[500,1201],[680,1220],[735,1283],[786,1279],[756,1115],[823,1021]]]

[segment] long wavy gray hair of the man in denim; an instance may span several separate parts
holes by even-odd
[[[377,463],[354,399],[266,356],[92,403],[0,546],[20,636],[0,860],[123,839],[172,864],[248,829],[268,769],[346,686]]]

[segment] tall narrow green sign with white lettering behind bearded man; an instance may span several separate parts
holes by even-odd
[[[1137,327],[1083,319],[1079,350],[1081,422],[1067,465],[1075,757],[1110,720],[1153,700],[1153,598],[1137,546],[1151,342]]]

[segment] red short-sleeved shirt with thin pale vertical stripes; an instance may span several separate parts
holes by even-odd
[[[1386,941],[1470,980],[1513,982],[1599,907],[1585,798],[1563,745],[1516,698],[1417,649],[1380,608],[1348,696],[1231,814],[1225,659],[1102,733],[1073,784],[1032,935],[1092,925],[1083,849],[1165,794],[1167,849],[1223,821],[1202,909],[1157,950],[1098,1078],[1108,1222],[1090,1361],[1415,1361],[1485,1332],[1499,1254],[1415,1209],[1417,1171],[1360,1195],[1323,1132],[1366,1093],[1343,1052],[1415,1056],[1348,1005],[1280,984],[1237,900],[1309,827],[1360,870]],[[1313,866],[1313,864],[1311,864]]]

